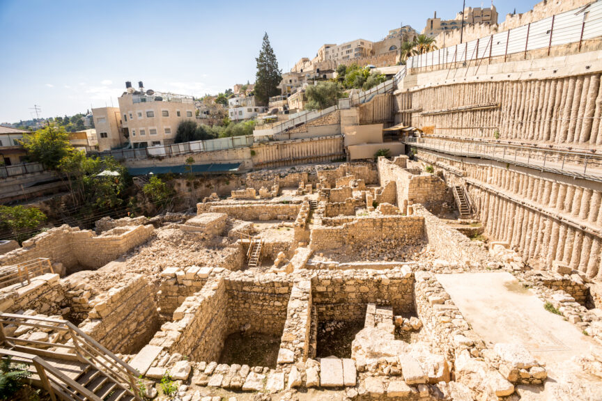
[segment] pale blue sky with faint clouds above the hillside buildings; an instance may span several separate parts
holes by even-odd
[[[500,22],[535,0],[495,1]],[[466,6],[491,1],[467,1]],[[461,0],[0,0],[0,122],[117,106],[124,82],[200,96],[254,81],[263,32],[282,70],[324,43],[379,40],[401,22],[421,31]]]

